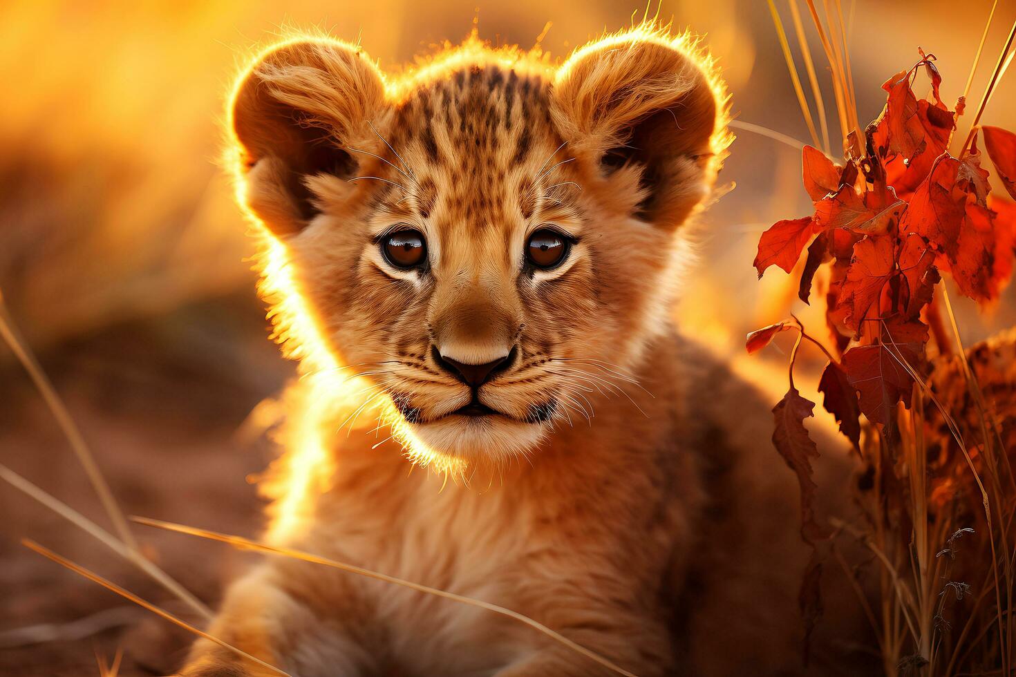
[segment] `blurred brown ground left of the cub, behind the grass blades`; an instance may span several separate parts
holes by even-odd
[[[261,504],[247,481],[270,445],[243,423],[292,374],[265,340],[251,295],[112,327],[41,359],[123,510],[247,536]],[[112,530],[53,416],[0,351],[0,463]],[[138,569],[15,489],[0,486],[0,674],[99,675],[94,654],[125,652],[121,675],[165,675],[190,638],[23,546],[35,539],[191,621]],[[143,549],[200,599],[252,561],[229,546],[135,526]]]

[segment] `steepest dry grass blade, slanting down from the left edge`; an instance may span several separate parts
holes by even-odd
[[[103,506],[110,516],[110,520],[113,521],[113,525],[116,527],[117,533],[120,534],[120,539],[126,543],[130,549],[136,550],[137,542],[134,540],[134,536],[130,533],[130,528],[127,526],[127,520],[124,518],[124,514],[120,510],[120,506],[117,505],[117,501],[113,497],[113,492],[110,491],[110,487],[106,483],[106,479],[100,472],[99,466],[96,464],[96,459],[88,450],[88,446],[85,444],[84,437],[81,435],[81,431],[78,429],[74,419],[71,418],[70,412],[67,411],[67,407],[64,405],[63,400],[60,399],[60,396],[57,394],[53,384],[50,383],[46,373],[43,371],[42,366],[39,364],[39,360],[36,359],[35,355],[28,349],[24,341],[21,341],[18,337],[17,331],[14,328],[14,323],[7,315],[7,310],[4,306],[2,295],[0,295],[0,336],[3,337],[4,341],[14,353],[14,356],[21,362],[24,370],[28,373],[29,377],[31,377],[31,381],[36,384],[36,387],[42,394],[43,399],[46,400],[46,404],[56,417],[57,423],[60,425],[60,429],[63,430],[64,435],[66,435],[67,441],[70,443],[71,449],[74,450],[74,454],[77,456],[78,461],[80,461],[81,465],[84,467],[84,472],[88,475],[88,481],[91,482],[96,492],[99,494],[100,500],[103,501]]]

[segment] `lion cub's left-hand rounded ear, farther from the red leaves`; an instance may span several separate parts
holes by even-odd
[[[385,108],[377,67],[335,42],[299,42],[263,55],[233,99],[233,130],[247,173],[247,204],[276,234],[316,213],[308,177],[347,179]]]

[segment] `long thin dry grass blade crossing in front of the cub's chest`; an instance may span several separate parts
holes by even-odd
[[[524,616],[517,611],[512,611],[511,609],[506,609],[505,607],[498,606],[497,604],[491,604],[490,602],[484,602],[483,600],[475,600],[471,597],[465,597],[463,595],[456,595],[455,593],[449,593],[444,590],[439,590],[437,588],[431,588],[429,586],[422,586],[419,583],[412,583],[411,581],[405,581],[403,579],[396,579],[385,573],[379,573],[377,571],[372,571],[370,569],[363,568],[361,566],[356,566],[354,564],[346,564],[345,562],[336,561],[334,559],[328,559],[327,557],[319,557],[318,555],[311,554],[309,552],[302,552],[300,550],[293,550],[290,548],[281,548],[273,545],[268,545],[266,543],[258,543],[257,541],[252,541],[242,536],[232,536],[230,534],[221,534],[219,532],[208,531],[205,529],[196,529],[194,527],[187,527],[185,525],[174,524],[172,522],[163,522],[162,520],[151,520],[149,518],[142,517],[132,517],[131,520],[138,524],[143,524],[148,527],[155,527],[157,529],[166,529],[168,531],[175,531],[180,534],[188,534],[190,536],[198,536],[200,538],[207,538],[213,541],[220,541],[223,543],[228,543],[237,548],[258,550],[260,552],[266,552],[274,555],[281,555],[282,557],[292,557],[295,559],[301,559],[306,562],[311,562],[313,564],[322,564],[324,566],[331,566],[333,568],[341,569],[343,571],[348,571],[350,573],[356,573],[358,576],[363,576],[368,579],[375,579],[377,581],[383,581],[385,583],[390,583],[396,586],[402,586],[403,588],[408,588],[420,593],[425,593],[427,595],[434,595],[435,597],[442,597],[446,600],[452,600],[453,602],[460,602],[462,604],[468,604],[470,606],[480,607],[481,609],[487,609],[488,611],[493,611],[494,613],[501,614],[502,616],[508,616],[509,618],[514,618],[515,620],[525,623],[529,627],[539,630],[552,639],[559,641],[565,647],[571,649],[577,654],[584,656],[592,661],[595,661],[599,665],[610,668],[619,675],[625,675],[626,677],[635,677],[635,675],[624,668],[614,664],[610,660],[604,658],[602,656],[592,652],[581,645],[575,644],[568,637],[564,636],[556,630],[552,630],[543,623],[534,621],[528,616]]]

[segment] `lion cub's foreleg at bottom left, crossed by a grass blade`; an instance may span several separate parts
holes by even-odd
[[[300,574],[303,573],[303,578]],[[375,674],[363,609],[341,579],[267,564],[233,584],[209,634],[300,677]],[[312,589],[313,588],[313,589]],[[344,604],[343,604],[344,601]],[[359,628],[359,629],[358,629]],[[275,677],[213,641],[194,645],[180,677]]]

